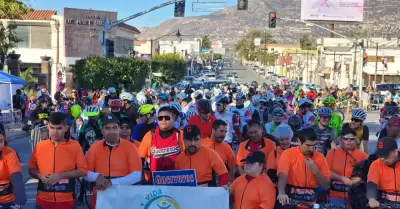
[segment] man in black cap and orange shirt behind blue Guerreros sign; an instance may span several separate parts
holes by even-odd
[[[229,183],[229,174],[218,153],[208,147],[200,146],[200,129],[188,125],[183,130],[185,152],[175,161],[176,170],[196,170],[198,186],[225,186]],[[219,182],[217,182],[217,176]]]

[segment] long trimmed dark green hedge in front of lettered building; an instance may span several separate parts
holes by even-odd
[[[132,57],[87,57],[75,63],[76,81],[79,87],[103,89],[124,87],[137,91],[145,84],[150,70],[147,61]]]

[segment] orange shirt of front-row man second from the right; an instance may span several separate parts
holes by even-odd
[[[353,167],[367,158],[368,155],[359,149],[346,152],[342,148],[336,148],[329,150],[326,155],[329,169],[340,176],[346,177],[351,177]],[[348,200],[347,191],[349,191],[349,189],[350,188],[344,185],[343,182],[332,179],[329,196],[335,199]]]

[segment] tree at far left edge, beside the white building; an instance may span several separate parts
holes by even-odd
[[[0,1],[0,19],[19,19],[26,14],[29,8],[23,1]],[[3,69],[9,50],[15,48],[20,41],[14,32],[15,25],[4,26],[0,22],[0,69]]]

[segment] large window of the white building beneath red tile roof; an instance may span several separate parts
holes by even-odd
[[[15,29],[15,33],[21,40],[17,43],[18,48],[51,48],[50,26],[18,25]]]

